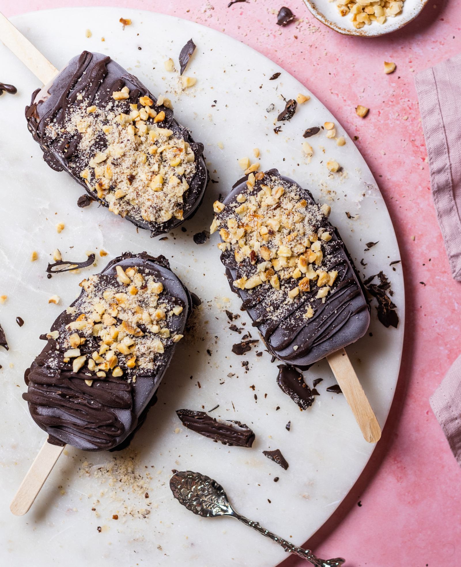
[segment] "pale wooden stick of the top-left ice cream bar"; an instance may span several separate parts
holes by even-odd
[[[0,40],[23,62],[43,84],[49,83],[58,70],[0,12]]]

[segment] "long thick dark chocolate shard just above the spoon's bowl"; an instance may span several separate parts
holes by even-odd
[[[223,445],[251,447],[253,441],[255,441],[253,431],[240,421],[226,420],[222,422],[210,417],[205,412],[196,412],[192,409],[177,409],[176,414],[188,429],[213,439],[213,441],[221,441]]]

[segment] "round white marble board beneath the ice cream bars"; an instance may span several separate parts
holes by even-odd
[[[335,511],[373,446],[363,440],[344,398],[325,392],[335,382],[326,362],[306,373],[309,384],[314,378],[323,382],[312,408],[300,412],[278,388],[277,368],[267,353],[261,358],[255,356],[257,348],[243,357],[231,353],[239,335],[229,331],[224,310],[239,312],[239,305],[223,275],[217,239],[198,246],[192,235],[209,227],[212,202],[241,175],[237,160],[252,157],[253,147],[260,148],[263,169],[278,167],[308,185],[319,201],[329,202],[332,222],[339,226],[352,256],[357,264],[362,258],[367,263],[365,276],[383,269],[395,291],[399,328],[384,328],[373,306],[373,337],[366,335],[347,349],[384,425],[399,371],[404,319],[401,266],[397,264],[395,271],[389,266],[399,259],[394,230],[369,169],[339,124],[345,146],[336,146],[322,133],[310,138],[315,151],[311,163],[303,158],[304,129],[335,121],[319,100],[312,96],[289,124],[282,125],[282,132],[274,134],[273,121],[284,107],[280,95],[290,98],[308,92],[286,71],[238,41],[197,24],[124,10],[133,24],[122,31],[120,15],[118,9],[44,11],[20,16],[14,23],[57,67],[83,49],[98,50],[137,74],[154,94],[168,94],[176,116],[205,143],[209,170],[219,183],[210,184],[202,208],[184,225],[187,232],[177,229],[163,241],[150,239],[146,231],[137,233],[133,225],[96,204],[77,208],[82,189],[66,174],[46,166],[26,128],[24,106],[39,82],[0,45],[2,81],[19,90],[16,96],[0,98],[0,295],[8,295],[0,305],[0,321],[10,344],[8,353],[0,349],[0,564],[274,565],[285,556],[277,545],[232,519],[201,519],[174,501],[168,488],[171,469],[189,468],[214,477],[225,486],[236,509],[301,544]],[[85,37],[87,28],[90,39]],[[190,37],[197,52],[186,74],[196,77],[197,83],[181,93],[177,73],[167,73],[163,61],[168,57],[177,61]],[[276,71],[281,71],[280,78],[268,81]],[[267,113],[270,103],[276,110]],[[344,167],[343,176],[329,179],[325,167],[329,158]],[[345,211],[355,218],[349,220]],[[57,222],[65,223],[61,234],[56,232]],[[364,252],[370,240],[379,244]],[[42,348],[39,334],[48,331],[62,308],[73,301],[78,282],[91,270],[48,280],[46,264],[57,247],[73,260],[82,260],[87,250],[98,253],[104,248],[108,256],[98,256],[98,269],[128,249],[163,253],[203,303],[132,449],[84,454],[67,447],[31,511],[16,518],[10,514],[9,502],[45,439],[21,398],[26,390],[23,373]],[[31,263],[33,250],[39,260]],[[48,304],[53,294],[60,295],[60,305]],[[16,325],[16,316],[26,321],[22,328]],[[249,327],[245,314],[236,321],[239,326],[243,322]],[[247,374],[242,360],[249,362]],[[216,404],[215,417],[237,419],[253,428],[252,449],[213,443],[184,430],[176,418],[175,409],[203,405],[209,410]],[[289,420],[290,432],[285,429]],[[282,450],[290,464],[287,471],[265,458],[261,451],[267,448]],[[117,471],[105,472],[114,456],[124,466],[134,456],[137,475],[142,477],[136,488],[133,476],[120,482]],[[276,476],[278,483],[273,481]],[[113,514],[119,519],[112,519]],[[340,553],[338,549],[333,555]]]

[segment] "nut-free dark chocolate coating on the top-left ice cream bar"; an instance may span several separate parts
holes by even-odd
[[[33,139],[40,144],[45,162],[53,170],[66,171],[77,183],[82,185],[92,198],[98,200],[105,207],[109,205],[108,202],[104,198],[97,198],[96,192],[90,191],[84,183],[84,179],[79,175],[79,171],[83,167],[70,167],[70,160],[76,158],[75,153],[79,137],[67,136],[64,140],[61,138],[53,139],[48,135],[47,127],[53,121],[64,127],[66,116],[72,107],[79,103],[77,99],[79,93],[83,92],[84,98],[88,99],[90,104],[97,102],[105,105],[111,102],[112,92],[120,91],[124,86],[127,86],[130,90],[129,99],[124,101],[126,105],[124,112],[128,114],[130,112],[129,104],[137,103],[139,96],[149,96],[154,103],[157,101],[155,96],[134,75],[125,71],[110,57],[101,53],[84,51],[80,56],[70,60],[52,84],[33,92],[31,105],[26,107],[28,129],[32,133]],[[164,106],[154,106],[154,108],[157,112],[163,111],[165,113],[162,126],[172,130],[177,136],[183,137],[191,145],[196,156],[197,166],[196,173],[189,181],[189,189],[184,193],[183,219],[172,217],[169,221],[156,223],[133,218],[129,214],[125,216],[134,225],[150,230],[152,235],[156,236],[179,226],[185,219],[193,215],[204,197],[209,176],[202,156],[204,146],[193,141],[189,130],[174,119],[173,111],[170,108]],[[98,151],[104,149],[104,147],[98,147]],[[75,165],[75,161],[73,164]]]

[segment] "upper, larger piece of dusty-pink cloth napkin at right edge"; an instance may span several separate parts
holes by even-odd
[[[461,54],[416,75],[430,185],[450,261],[461,281]]]

